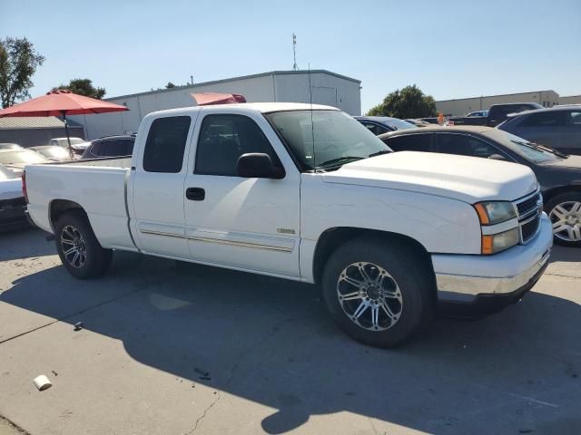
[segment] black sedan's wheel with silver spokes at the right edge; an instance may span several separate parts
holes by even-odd
[[[555,243],[581,247],[581,192],[569,191],[550,198],[545,211],[553,225]]]

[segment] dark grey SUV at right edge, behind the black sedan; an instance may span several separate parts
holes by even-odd
[[[498,126],[518,137],[581,155],[581,104],[522,111]]]

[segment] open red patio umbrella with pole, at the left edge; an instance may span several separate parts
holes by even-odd
[[[87,115],[128,110],[125,106],[113,104],[113,102],[103,102],[63,89],[54,89],[51,92],[46,92],[46,95],[42,97],[33,98],[27,102],[21,102],[0,110],[0,118],[5,116],[62,116],[66,139],[69,142],[69,152],[72,153],[66,115]]]

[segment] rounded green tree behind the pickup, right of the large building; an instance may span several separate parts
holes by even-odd
[[[393,118],[427,118],[436,116],[436,102],[431,95],[421,92],[415,84],[401,91],[389,93],[383,102],[368,111],[369,116],[391,116]]]

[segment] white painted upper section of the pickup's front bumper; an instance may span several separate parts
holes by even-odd
[[[493,256],[432,255],[432,263],[436,274],[503,278],[522,274],[552,246],[551,223],[543,213],[540,230],[527,245],[517,245]]]

